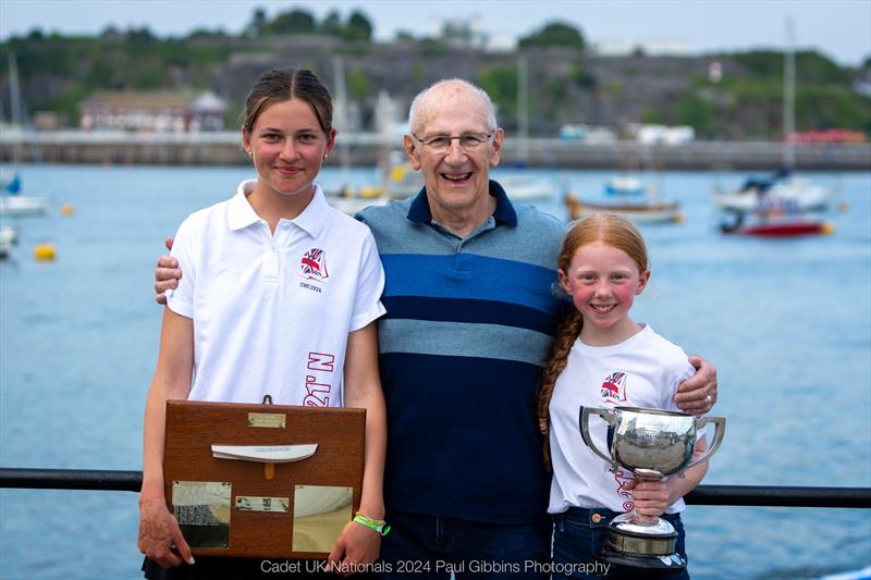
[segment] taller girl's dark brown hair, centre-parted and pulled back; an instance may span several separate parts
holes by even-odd
[[[250,133],[257,118],[273,102],[299,99],[307,102],[328,136],[333,128],[333,102],[315,73],[306,69],[275,69],[260,75],[245,99],[243,126]]]

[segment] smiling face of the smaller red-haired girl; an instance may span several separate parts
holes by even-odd
[[[560,283],[584,317],[585,332],[625,332],[634,324],[629,309],[649,279],[649,270],[639,272],[625,251],[602,242],[585,244],[568,271],[560,270]]]

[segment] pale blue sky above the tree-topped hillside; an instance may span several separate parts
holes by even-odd
[[[493,36],[524,36],[561,20],[590,42],[675,40],[692,52],[783,50],[792,18],[798,50],[814,49],[841,64],[871,55],[871,0],[0,0],[0,39],[35,27],[64,35],[99,34],[108,25],[147,25],[158,36],[196,28],[238,34],[255,8],[268,16],[302,8],[317,20],[331,10],[363,11],[378,40],[397,30],[433,33],[438,18],[477,17]]]

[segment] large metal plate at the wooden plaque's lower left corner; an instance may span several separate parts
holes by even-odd
[[[191,547],[230,545],[230,497],[224,481],[173,481],[172,513]]]

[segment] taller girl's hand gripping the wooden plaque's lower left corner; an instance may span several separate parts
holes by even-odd
[[[194,564],[191,546],[163,497],[139,499],[139,552],[164,568]]]

